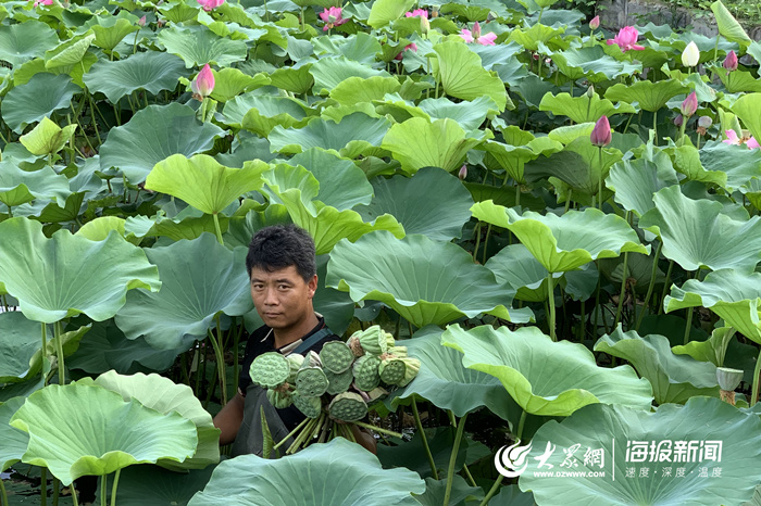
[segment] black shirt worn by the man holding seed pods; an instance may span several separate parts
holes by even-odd
[[[317,322],[317,325],[312,330],[310,330],[309,333],[307,333],[303,338],[294,343],[287,344],[280,349],[275,349],[275,337],[273,336],[273,333],[271,333],[272,329],[270,327],[263,325],[257,330],[254,330],[253,333],[248,338],[248,342],[246,343],[246,353],[244,355],[244,363],[240,369],[240,378],[238,380],[238,389],[240,390],[240,393],[245,396],[246,390],[252,383],[251,377],[249,376],[249,369],[251,368],[251,364],[253,363],[254,358],[257,358],[262,353],[266,352],[288,353],[289,351],[295,350],[296,347],[298,347],[299,344],[301,344],[301,341],[305,340],[307,338],[325,327],[325,318],[320,316],[319,319],[320,321]],[[322,350],[323,347],[323,344],[325,344],[326,342],[339,340],[340,339],[336,334],[326,336],[317,342],[315,342],[314,344],[312,344],[307,350],[307,352],[302,353],[302,355],[305,356],[309,351],[320,352],[320,350]],[[296,426],[301,423],[304,420],[304,418],[307,418],[307,416],[294,405],[290,405],[283,409],[277,409],[277,414],[279,415],[280,419],[283,420],[283,423],[285,423],[288,430],[296,429]]]

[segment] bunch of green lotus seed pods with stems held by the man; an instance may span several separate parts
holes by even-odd
[[[390,333],[374,325],[354,332],[347,342],[326,342],[320,353],[263,353],[253,360],[249,374],[254,383],[267,389],[273,406],[292,404],[307,416],[289,434],[294,442],[286,454],[291,454],[339,435],[354,441],[351,423],[398,435],[360,420],[369,404],[408,384],[419,370],[420,360],[409,357],[406,346],[397,346]]]

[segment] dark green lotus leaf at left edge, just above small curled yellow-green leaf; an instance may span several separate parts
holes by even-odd
[[[68,109],[72,97],[82,89],[66,75],[37,74],[25,85],[8,92],[2,101],[2,119],[16,134],[27,125]]]

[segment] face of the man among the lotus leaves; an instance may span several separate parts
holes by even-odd
[[[312,298],[317,289],[317,276],[309,282],[296,266],[267,271],[251,269],[251,299],[264,324],[273,329],[298,327],[314,312]]]

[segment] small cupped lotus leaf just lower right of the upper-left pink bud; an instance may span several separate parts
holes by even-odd
[[[240,126],[262,137],[276,126],[300,128],[307,123],[308,110],[290,97],[250,97],[245,105],[248,111],[240,118]]]

